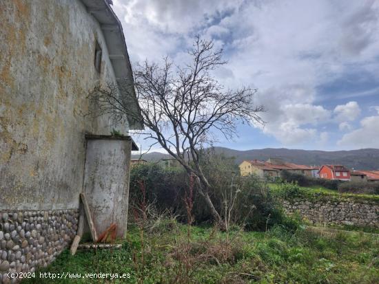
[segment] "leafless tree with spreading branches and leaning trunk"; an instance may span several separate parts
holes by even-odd
[[[210,186],[201,169],[199,153],[212,144],[217,133],[233,138],[238,120],[263,123],[259,114],[264,109],[253,105],[255,89],[225,89],[212,76],[212,70],[226,63],[222,52],[215,50],[212,41],[196,37],[188,51],[192,59],[187,65],[174,66],[168,58],[161,67],[147,61],[137,65],[132,86],[136,96],[119,95],[133,90],[130,82],[125,81],[96,87],[90,99],[96,101],[99,114],[111,114],[116,120],[137,119],[141,111],[149,130],[147,137],[178,160],[189,176],[195,177],[198,193],[224,228],[221,214],[209,195]],[[141,109],[130,109],[132,99],[138,100]]]

